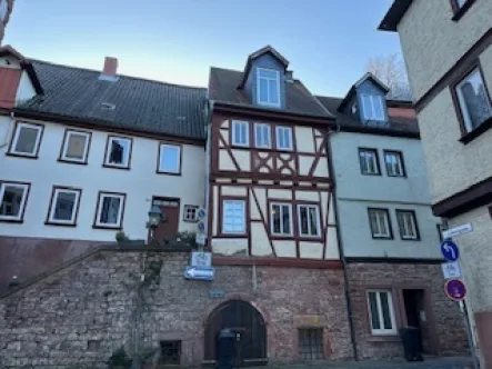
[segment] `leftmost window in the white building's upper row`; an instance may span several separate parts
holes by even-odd
[[[9,153],[22,157],[38,157],[43,126],[18,122]]]

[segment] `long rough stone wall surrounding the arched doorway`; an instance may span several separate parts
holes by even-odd
[[[1,298],[0,362],[104,368],[121,345],[131,351],[142,255],[98,251]],[[297,327],[309,316],[323,325],[329,359],[352,356],[342,270],[222,266],[213,282],[189,281],[183,278],[188,259],[187,252],[150,255],[148,265],[162,263],[142,293],[142,347],[180,339],[181,363],[200,365],[208,316],[225,300],[241,299],[267,322],[269,360],[298,358]],[[211,289],[224,297],[211,299]]]

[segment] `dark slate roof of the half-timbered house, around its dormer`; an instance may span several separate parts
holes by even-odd
[[[210,69],[209,98],[214,101],[259,108],[248,101],[243,90],[238,88],[241,84],[243,72],[212,67]],[[261,107],[260,109],[279,111],[279,109],[274,108]],[[320,102],[299,80],[294,80],[293,83],[285,83],[285,108],[281,111],[334,118],[323,109]]]

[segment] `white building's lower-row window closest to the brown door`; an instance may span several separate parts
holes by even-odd
[[[124,193],[99,192],[94,227],[121,228],[125,197]]]

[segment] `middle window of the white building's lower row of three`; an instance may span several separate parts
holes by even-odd
[[[74,226],[80,193],[80,189],[53,187],[47,223]]]

